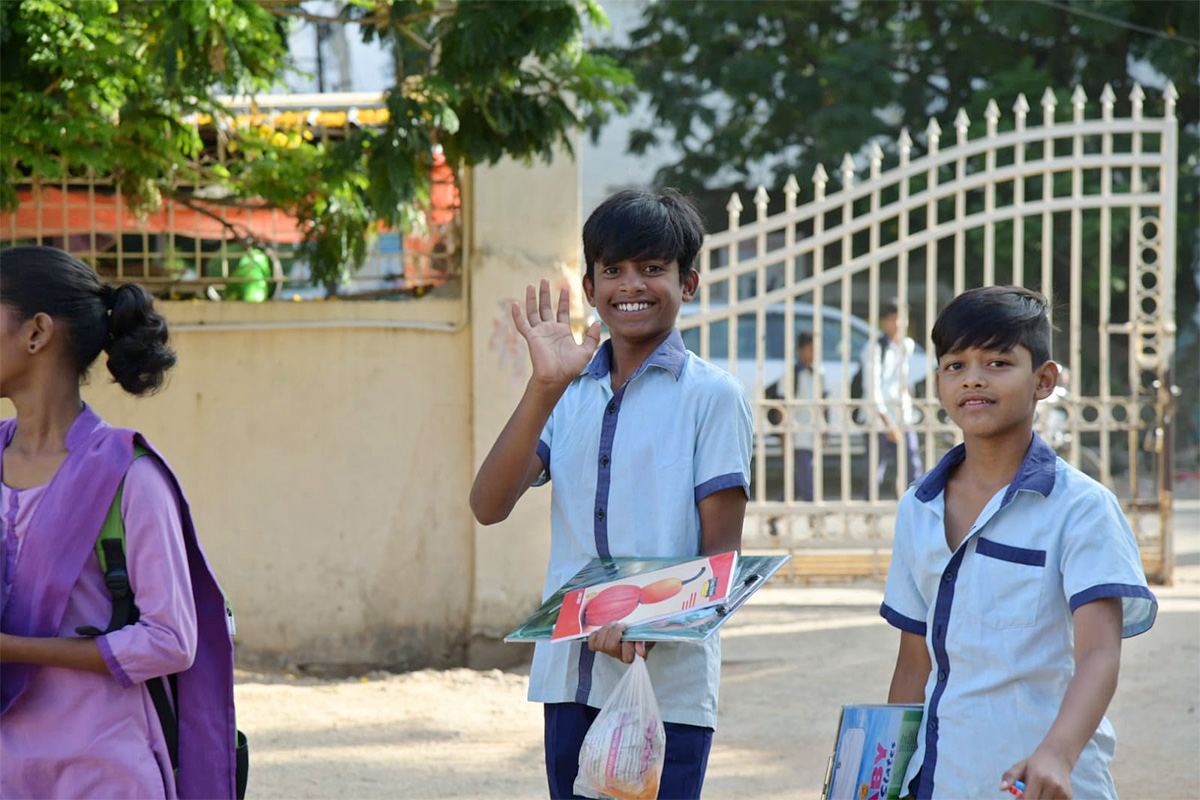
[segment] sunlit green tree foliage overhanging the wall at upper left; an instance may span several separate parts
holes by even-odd
[[[275,89],[299,19],[356,25],[395,55],[383,130],[298,140],[226,131],[240,158],[205,157],[193,115],[228,116],[218,97]],[[378,223],[419,225],[433,149],[454,167],[570,149],[628,73],[582,46],[593,0],[344,0],[336,14],[296,0],[17,0],[0,4],[0,207],[34,179],[110,176],[154,210],[180,185],[221,201],[265,200],[295,215],[313,276],[336,283],[362,263]]]

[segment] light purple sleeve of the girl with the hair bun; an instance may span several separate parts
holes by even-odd
[[[196,656],[196,601],[184,547],[179,499],[152,456],[133,462],[121,495],[125,554],[139,616],[97,637],[109,672],[122,686],[182,672]]]

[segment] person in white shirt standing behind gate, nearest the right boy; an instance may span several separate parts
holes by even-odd
[[[878,341],[863,349],[863,375],[866,397],[883,422],[880,438],[880,462],[875,481],[882,489],[888,467],[895,464],[901,486],[920,477],[924,471],[917,432],[911,428],[917,419],[908,390],[908,365],[917,343],[908,336],[908,306],[896,299],[880,308]],[[899,494],[904,494],[902,491]]]

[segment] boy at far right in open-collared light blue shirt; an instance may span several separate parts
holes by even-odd
[[[1104,711],[1121,639],[1153,625],[1157,601],[1116,498],[1033,433],[1057,380],[1046,301],[966,291],[932,341],[964,441],[900,501],[880,609],[901,631],[888,702],[924,704],[905,784],[1115,798]]]

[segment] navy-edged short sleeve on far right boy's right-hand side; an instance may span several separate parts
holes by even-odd
[[[1121,597],[1121,636],[1148,631],[1158,600],[1146,584],[1138,541],[1111,492],[1094,487],[1082,493],[1068,516],[1060,570],[1072,613],[1104,597]]]

